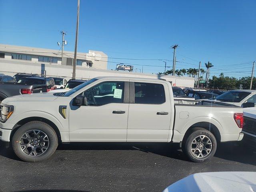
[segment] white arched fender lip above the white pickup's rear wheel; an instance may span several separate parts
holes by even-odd
[[[186,122],[185,126],[182,129],[181,133],[186,133],[186,131],[194,124],[199,123],[199,122],[208,122],[213,124],[214,126],[216,126],[221,133],[223,133],[223,128],[221,126],[221,124],[214,118],[208,117],[208,116],[201,116],[201,117],[196,117],[193,118],[191,120],[189,120],[188,122]]]

